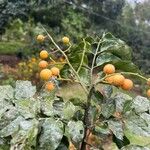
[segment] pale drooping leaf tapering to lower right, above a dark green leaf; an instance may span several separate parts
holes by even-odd
[[[109,120],[108,122],[109,129],[113,132],[113,134],[120,140],[123,140],[123,124],[119,120]]]

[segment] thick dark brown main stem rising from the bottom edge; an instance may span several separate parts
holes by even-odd
[[[91,121],[90,121],[90,118],[89,118],[89,110],[90,110],[90,106],[91,106],[91,97],[92,97],[92,93],[93,93],[93,90],[94,90],[94,86],[91,87],[90,91],[89,91],[89,94],[87,96],[87,104],[86,104],[86,108],[85,108],[85,112],[84,112],[84,119],[83,119],[83,123],[84,123],[84,137],[83,137],[83,140],[82,140],[82,143],[81,143],[81,149],[80,150],[86,150],[86,145],[87,145],[87,142],[86,142],[86,139],[88,138],[88,130],[90,129],[91,127]]]

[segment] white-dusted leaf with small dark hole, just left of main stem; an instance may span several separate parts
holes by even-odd
[[[84,127],[82,121],[69,121],[67,124],[67,136],[74,142],[81,142],[84,136]]]

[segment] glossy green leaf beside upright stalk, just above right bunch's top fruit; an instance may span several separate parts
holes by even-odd
[[[98,55],[96,58],[96,66],[102,66],[106,63],[113,63],[121,60],[119,57],[111,54],[111,53],[103,53]]]

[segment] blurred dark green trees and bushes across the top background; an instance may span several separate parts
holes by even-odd
[[[21,37],[21,39],[30,41],[30,44],[25,44],[26,50],[29,47],[35,50],[37,47],[34,45],[33,33],[37,33],[34,29],[40,30],[38,23],[47,26],[46,28],[57,38],[67,34],[72,40],[83,37],[87,33],[101,35],[102,31],[111,31],[133,48],[134,62],[144,72],[150,73],[148,69],[150,57],[149,8],[149,0],[143,3],[137,2],[134,5],[125,0],[2,0],[0,2],[2,45],[4,45],[3,39],[13,41],[16,45],[14,52],[16,52],[16,49],[20,49],[20,44],[15,42]],[[15,21],[15,19],[20,20]],[[12,23],[16,28],[13,29],[13,32]],[[12,36],[13,39],[10,38],[12,34],[16,35]],[[27,38],[26,35],[30,38]],[[5,45],[3,51],[4,49],[13,51],[9,44]]]

